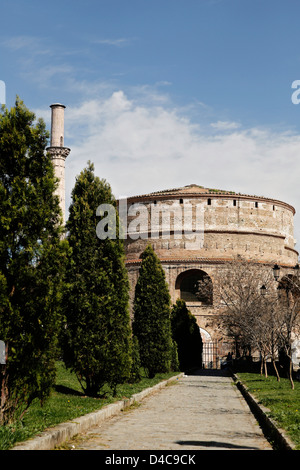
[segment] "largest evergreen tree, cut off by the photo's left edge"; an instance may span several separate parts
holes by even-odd
[[[0,424],[44,400],[55,380],[66,261],[57,181],[42,120],[17,98],[0,113]]]

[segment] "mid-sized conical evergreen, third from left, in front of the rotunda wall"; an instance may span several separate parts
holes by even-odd
[[[171,367],[170,294],[165,273],[153,248],[142,254],[135,288],[133,334],[138,338],[141,365],[149,377]]]

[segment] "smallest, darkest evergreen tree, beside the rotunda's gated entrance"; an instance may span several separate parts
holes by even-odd
[[[202,364],[202,339],[196,318],[184,300],[178,299],[171,310],[172,337],[177,343],[180,370]]]

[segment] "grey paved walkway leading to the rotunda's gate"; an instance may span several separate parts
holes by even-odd
[[[76,450],[272,450],[224,371],[180,378],[72,441]]]

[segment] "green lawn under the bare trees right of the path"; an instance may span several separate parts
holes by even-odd
[[[237,375],[257,401],[270,410],[268,416],[287,432],[300,450],[300,382],[295,381],[292,390],[288,379],[281,378],[277,382],[274,376],[241,372]]]

